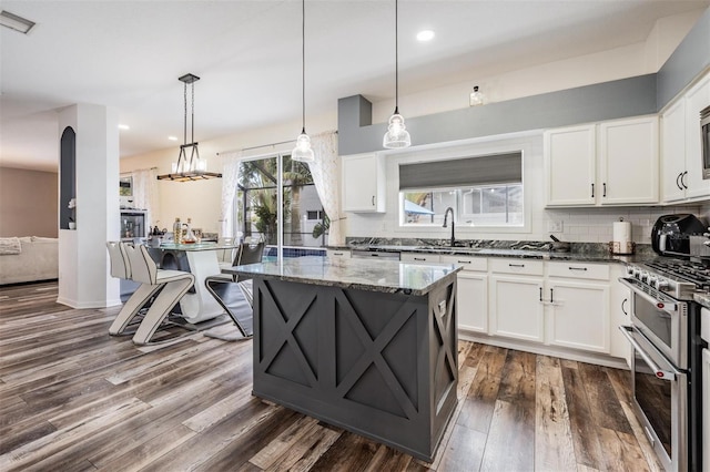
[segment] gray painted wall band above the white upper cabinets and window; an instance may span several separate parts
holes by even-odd
[[[709,64],[710,9],[657,74],[409,119],[402,113],[414,146],[653,114]],[[386,129],[387,123],[372,124],[364,96],[338,100],[341,155],[382,151]]]

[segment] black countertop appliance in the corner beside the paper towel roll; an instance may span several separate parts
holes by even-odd
[[[706,229],[696,215],[663,215],[651,229],[651,247],[661,256],[689,256],[690,235],[702,234]]]

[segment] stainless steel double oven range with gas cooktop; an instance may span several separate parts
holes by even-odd
[[[619,279],[630,289],[631,326],[620,329],[631,348],[633,407],[668,471],[703,471],[701,306],[693,294],[710,290],[710,268],[659,258],[631,265]]]

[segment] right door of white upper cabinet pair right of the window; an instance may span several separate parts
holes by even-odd
[[[602,205],[658,203],[658,116],[599,125]]]

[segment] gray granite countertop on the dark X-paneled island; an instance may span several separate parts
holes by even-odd
[[[225,274],[422,296],[448,284],[462,267],[456,264],[406,264],[398,260],[295,257],[223,269]]]

